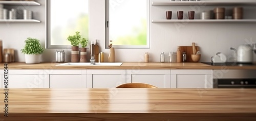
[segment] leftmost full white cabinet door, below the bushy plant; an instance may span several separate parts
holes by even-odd
[[[44,88],[43,70],[9,70],[8,88]],[[2,88],[4,84],[2,84]]]

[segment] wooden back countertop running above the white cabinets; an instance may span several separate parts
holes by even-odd
[[[202,63],[123,63],[121,66],[56,66],[61,63],[10,63],[9,69],[249,69],[256,70],[256,66],[209,66]],[[4,64],[0,65],[4,68]]]

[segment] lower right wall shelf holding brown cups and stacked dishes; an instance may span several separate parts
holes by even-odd
[[[194,19],[194,20],[152,20],[152,23],[256,23],[256,19],[218,19],[218,20],[201,20],[201,19]]]

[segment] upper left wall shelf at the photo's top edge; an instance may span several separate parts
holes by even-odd
[[[40,6],[41,4],[34,1],[0,1],[4,5],[22,5],[22,6]]]

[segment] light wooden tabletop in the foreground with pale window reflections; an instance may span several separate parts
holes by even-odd
[[[193,120],[197,116],[213,116],[214,119],[221,116],[226,120],[242,119],[245,116],[246,120],[256,119],[256,89],[1,89],[0,92],[0,99],[3,100],[0,101],[0,119],[7,120],[18,115],[24,116],[20,118],[21,120],[27,118],[25,115],[37,115],[38,119],[42,119],[39,116],[41,115],[46,119],[47,116],[54,117],[58,114],[73,114],[80,117],[80,120],[89,120],[90,117],[92,120],[97,120],[96,117],[114,120],[114,117],[122,116],[125,120],[131,120],[131,115],[139,115],[137,113],[150,114],[147,115],[148,119],[143,118],[144,120],[161,121],[167,120],[168,116],[171,118],[179,114],[183,117],[192,117],[187,120]],[[4,117],[5,98],[8,99],[9,117]],[[107,116],[108,114],[114,114],[114,117]],[[151,117],[154,115],[157,117]],[[163,117],[158,117],[161,115]],[[232,116],[237,117],[231,118]],[[138,116],[136,120],[140,118]]]

